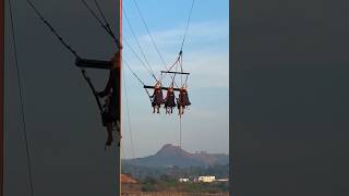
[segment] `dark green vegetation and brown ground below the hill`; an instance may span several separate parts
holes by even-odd
[[[122,173],[140,180],[142,192],[190,192],[190,193],[221,193],[229,192],[228,182],[198,183],[192,182],[200,175],[215,175],[216,179],[229,177],[229,164],[207,168],[147,168],[131,164],[122,166]],[[179,182],[180,177],[191,182]]]

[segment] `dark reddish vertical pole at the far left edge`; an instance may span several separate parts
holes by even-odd
[[[4,1],[0,2],[0,196],[3,196],[3,64],[4,64]]]

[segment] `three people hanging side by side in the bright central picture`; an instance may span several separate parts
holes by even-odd
[[[173,108],[177,106],[178,114],[181,115],[184,113],[184,109],[191,105],[188,97],[186,87],[184,86],[180,87],[179,96],[178,98],[176,98],[174,88],[172,84],[170,87],[168,87],[167,95],[164,98],[160,82],[157,82],[155,84],[154,94],[151,96],[151,98],[152,98],[153,113],[155,113],[155,111],[157,113],[160,113],[159,109],[161,105],[165,105],[164,108],[166,109],[166,113],[172,113]]]

